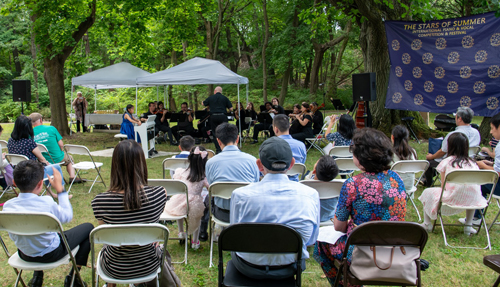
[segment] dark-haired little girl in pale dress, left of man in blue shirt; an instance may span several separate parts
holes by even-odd
[[[182,180],[188,186],[188,200],[189,200],[189,229],[188,234],[193,235],[191,248],[200,248],[200,241],[198,240],[200,234],[201,217],[205,210],[201,192],[203,187],[208,188],[208,181],[205,176],[205,165],[208,160],[208,152],[203,146],[196,146],[191,149],[188,156],[189,167],[187,169],[178,168],[175,170],[174,179]],[[165,206],[165,210],[172,215],[186,214],[187,201],[186,196],[176,194],[170,198]],[[179,227],[179,238],[187,238],[184,232],[184,225],[182,220],[177,220]]]

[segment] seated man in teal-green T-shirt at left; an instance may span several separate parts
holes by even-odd
[[[43,144],[49,151],[50,156],[42,155],[51,163],[61,163],[66,166],[66,171],[69,174],[69,181],[73,181],[75,177],[75,169],[73,168],[73,158],[64,152],[64,143],[59,131],[53,126],[43,124],[43,116],[39,113],[32,113],[30,116],[31,124],[33,125],[34,140],[36,143]],[[52,159],[54,162],[52,162]],[[75,183],[82,182],[79,178],[75,179]]]

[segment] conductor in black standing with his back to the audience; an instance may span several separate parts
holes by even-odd
[[[222,88],[216,87],[214,94],[204,100],[203,105],[210,107],[210,126],[214,136],[216,153],[220,153],[222,150],[217,142],[215,129],[218,125],[228,121],[226,109],[229,109],[229,111],[232,112],[233,104],[231,104],[231,101],[229,101],[229,99],[222,94]]]

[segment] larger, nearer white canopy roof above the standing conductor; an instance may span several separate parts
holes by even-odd
[[[248,84],[248,78],[234,73],[219,61],[196,57],[170,69],[139,77],[137,84],[147,86]]]

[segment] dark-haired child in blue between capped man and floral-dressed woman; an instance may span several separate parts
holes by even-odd
[[[312,171],[313,179],[320,181],[332,181],[339,174],[339,168],[335,160],[329,155],[323,155],[314,164]],[[338,198],[320,199],[320,222],[332,220],[337,210]]]

